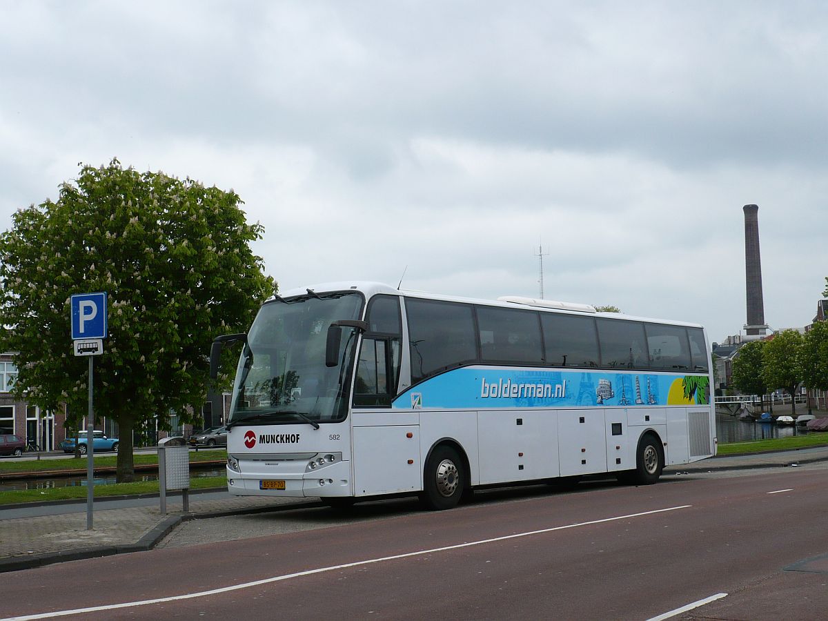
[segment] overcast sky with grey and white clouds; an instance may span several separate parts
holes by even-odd
[[[825,2],[0,0],[0,229],[78,162],[233,189],[280,288],[746,321],[826,288]]]

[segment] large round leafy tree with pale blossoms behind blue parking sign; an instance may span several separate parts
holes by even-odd
[[[108,339],[94,361],[98,416],[118,421],[118,476],[132,474],[132,429],[192,419],[214,336],[246,331],[274,282],[233,191],[161,172],[82,166],[55,202],[20,209],[0,235],[0,334],[18,352],[16,392],[73,426],[87,411],[87,361],[70,340],[70,295],[108,293]],[[128,464],[127,464],[128,462]],[[128,468],[127,468],[128,466]]]

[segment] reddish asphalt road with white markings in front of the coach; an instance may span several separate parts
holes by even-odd
[[[675,618],[824,619],[826,473],[535,486],[440,513],[406,500],[272,513],[255,529],[196,521],[195,541],[4,575],[0,616],[653,619],[706,601]],[[211,542],[213,528],[238,538]]]

